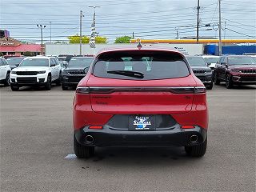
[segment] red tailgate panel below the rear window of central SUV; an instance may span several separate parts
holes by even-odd
[[[151,81],[91,75],[87,82],[92,110],[100,114],[184,114],[192,108],[194,84],[192,75]]]

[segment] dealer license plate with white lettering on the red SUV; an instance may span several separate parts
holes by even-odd
[[[155,130],[154,115],[130,115],[129,130]]]

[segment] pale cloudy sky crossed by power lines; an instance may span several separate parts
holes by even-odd
[[[44,42],[66,41],[79,34],[90,36],[96,8],[96,30],[109,43],[123,35],[143,39],[196,36],[198,0],[0,0],[0,29],[26,42],[40,43],[37,24],[45,25]],[[222,38],[255,38],[256,1],[221,0]],[[218,0],[200,0],[199,36],[218,38]],[[50,25],[51,22],[51,25]],[[210,24],[210,26],[206,26]],[[51,35],[50,35],[51,29]]]

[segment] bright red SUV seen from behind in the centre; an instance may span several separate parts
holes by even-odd
[[[184,55],[142,47],[104,50],[74,97],[74,152],[94,146],[185,146],[206,153],[206,87]]]

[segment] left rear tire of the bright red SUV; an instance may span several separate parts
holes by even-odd
[[[78,158],[90,158],[94,156],[94,146],[82,146],[74,136],[74,154]]]

